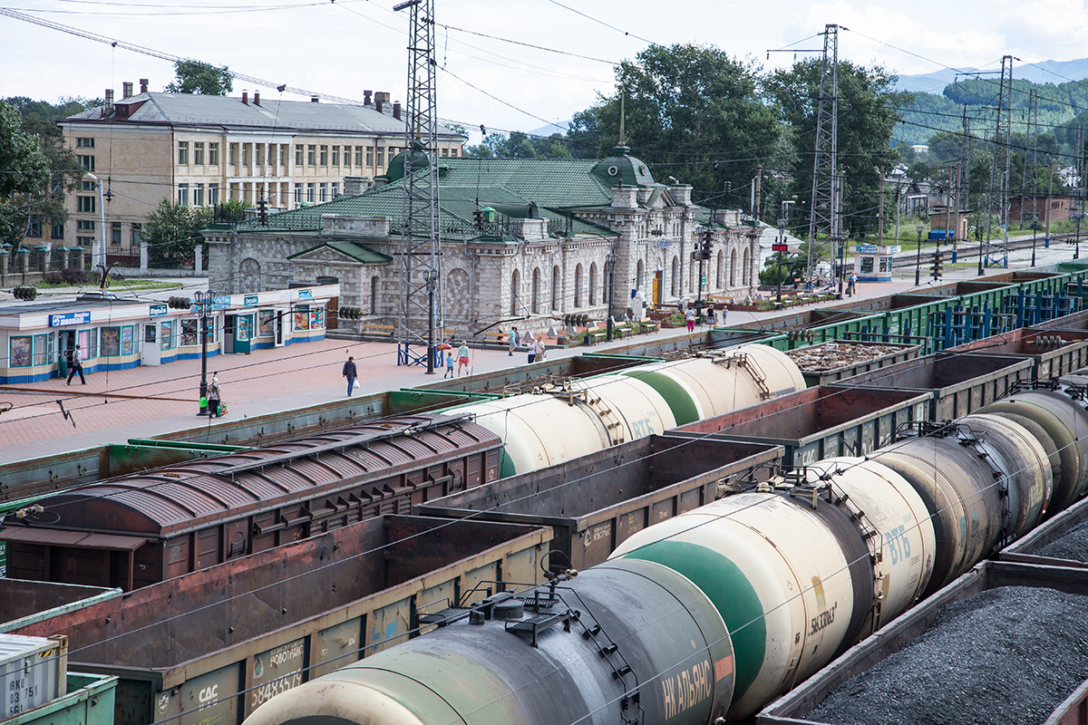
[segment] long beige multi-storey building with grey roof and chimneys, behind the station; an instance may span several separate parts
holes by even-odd
[[[104,240],[111,260],[139,255],[140,229],[162,199],[213,205],[239,199],[290,210],[359,193],[404,147],[400,103],[364,91],[363,105],[149,92],[125,83],[121,100],[60,122],[88,177],[69,196],[66,247]],[[442,157],[466,136],[440,127]],[[350,188],[345,178],[350,177]],[[101,184],[101,186],[99,186]],[[51,230],[59,239],[58,229]]]

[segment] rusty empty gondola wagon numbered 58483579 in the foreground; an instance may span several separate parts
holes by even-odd
[[[64,632],[116,675],[114,725],[240,723],[311,677],[421,632],[420,614],[542,580],[549,528],[383,516],[20,629]]]

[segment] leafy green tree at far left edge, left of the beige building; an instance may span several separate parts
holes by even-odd
[[[0,101],[0,242],[18,245],[50,193],[49,159],[22,129],[18,111]]]

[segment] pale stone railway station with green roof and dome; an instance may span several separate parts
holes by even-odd
[[[625,147],[603,160],[437,163],[442,309],[458,335],[511,320],[546,328],[567,314],[603,321],[609,280],[617,317],[635,293],[657,304],[693,300],[701,289],[703,299],[755,293],[759,228],[738,211],[692,203],[690,186],[655,182]],[[366,193],[206,232],[212,286],[250,292],[336,282],[341,304],[363,313],[344,326],[395,324],[403,170],[398,155]]]

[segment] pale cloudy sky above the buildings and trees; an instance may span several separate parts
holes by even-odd
[[[393,12],[397,1],[16,0],[8,8],[79,35],[0,15],[0,97],[55,102],[100,98],[108,87],[120,97],[123,82],[139,78],[162,90],[172,63],[127,45],[268,84],[236,80],[234,95],[276,98],[274,86],[286,84],[358,100],[363,90],[387,90],[404,101],[407,11]],[[833,23],[849,28],[839,36],[840,58],[900,74],[1000,68],[1003,54],[1023,63],[1088,55],[1088,0],[435,0],[435,21],[438,115],[489,130],[569,120],[609,91],[610,63],[650,43],[715,45],[765,66],[788,65],[793,53],[768,60],[767,50],[820,49],[817,34]]]

